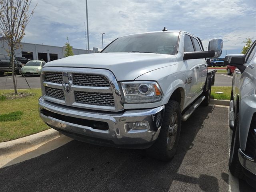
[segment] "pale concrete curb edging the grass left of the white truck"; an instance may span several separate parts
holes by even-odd
[[[6,141],[0,143],[0,154],[8,154],[21,150],[26,150],[36,145],[46,143],[50,140],[56,139],[60,136],[60,132],[54,129],[48,129],[42,132],[39,132],[34,135],[26,136],[20,139]]]

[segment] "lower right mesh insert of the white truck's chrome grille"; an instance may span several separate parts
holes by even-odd
[[[100,105],[100,106],[114,106],[114,97],[111,93],[97,93],[97,92],[82,92],[75,91],[76,102]]]

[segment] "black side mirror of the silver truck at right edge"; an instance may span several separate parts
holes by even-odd
[[[238,68],[240,72],[244,72],[246,66],[244,66],[245,55],[244,54],[232,54],[226,55],[224,59],[224,65],[230,65]]]

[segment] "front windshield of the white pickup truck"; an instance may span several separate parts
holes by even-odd
[[[146,33],[120,37],[108,45],[107,52],[141,52],[175,54],[179,32]]]

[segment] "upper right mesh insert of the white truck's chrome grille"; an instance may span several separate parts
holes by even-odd
[[[90,74],[73,74],[73,84],[79,86],[110,87],[106,77]]]

